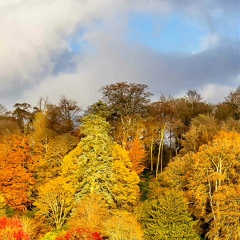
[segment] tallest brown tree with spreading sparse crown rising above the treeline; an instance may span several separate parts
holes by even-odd
[[[152,94],[145,84],[126,82],[103,86],[100,91],[103,101],[112,112],[114,137],[125,148],[127,139],[135,137],[134,132],[141,117],[147,113]]]

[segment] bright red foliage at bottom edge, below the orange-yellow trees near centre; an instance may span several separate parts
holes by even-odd
[[[102,238],[97,232],[78,228],[67,232],[63,237],[57,237],[56,240],[102,240]]]

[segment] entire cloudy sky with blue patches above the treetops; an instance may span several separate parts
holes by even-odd
[[[0,0],[0,103],[60,96],[86,108],[102,86],[142,83],[153,101],[240,85],[240,0]]]

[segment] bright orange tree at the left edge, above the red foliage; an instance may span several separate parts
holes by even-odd
[[[31,205],[33,159],[28,138],[8,135],[0,143],[0,192],[14,209]]]

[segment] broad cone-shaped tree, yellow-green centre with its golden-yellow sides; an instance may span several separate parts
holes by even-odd
[[[76,199],[95,193],[114,208],[132,210],[139,200],[140,180],[128,152],[110,136],[110,124],[98,115],[87,115],[80,131],[84,137],[62,165],[63,177],[76,188]]]

